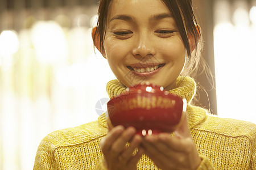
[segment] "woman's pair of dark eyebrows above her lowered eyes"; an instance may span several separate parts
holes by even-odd
[[[150,21],[154,20],[160,20],[164,18],[173,18],[173,16],[169,13],[163,13],[163,14],[156,14],[150,17]],[[134,21],[135,19],[131,17],[130,15],[115,15],[112,19],[110,19],[110,22],[112,22],[115,19],[119,20],[125,20],[125,21]]]

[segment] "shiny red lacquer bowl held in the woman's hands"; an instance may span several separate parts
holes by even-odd
[[[109,129],[117,125],[134,126],[138,134],[151,135],[175,131],[183,119],[187,102],[163,87],[142,83],[127,88],[107,106]]]

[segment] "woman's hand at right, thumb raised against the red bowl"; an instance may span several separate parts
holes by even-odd
[[[187,125],[187,113],[176,129],[175,136],[169,133],[147,135],[143,142],[145,154],[161,169],[197,169],[201,159]]]

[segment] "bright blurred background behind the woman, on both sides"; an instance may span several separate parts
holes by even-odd
[[[115,77],[93,50],[97,3],[0,0],[0,170],[32,169],[43,137],[104,111]],[[256,0],[193,3],[214,75],[197,75],[198,104],[256,123]]]

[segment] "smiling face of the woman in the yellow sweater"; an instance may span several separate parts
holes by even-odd
[[[126,87],[150,82],[171,90],[186,58],[175,20],[160,0],[113,0],[104,50]]]

